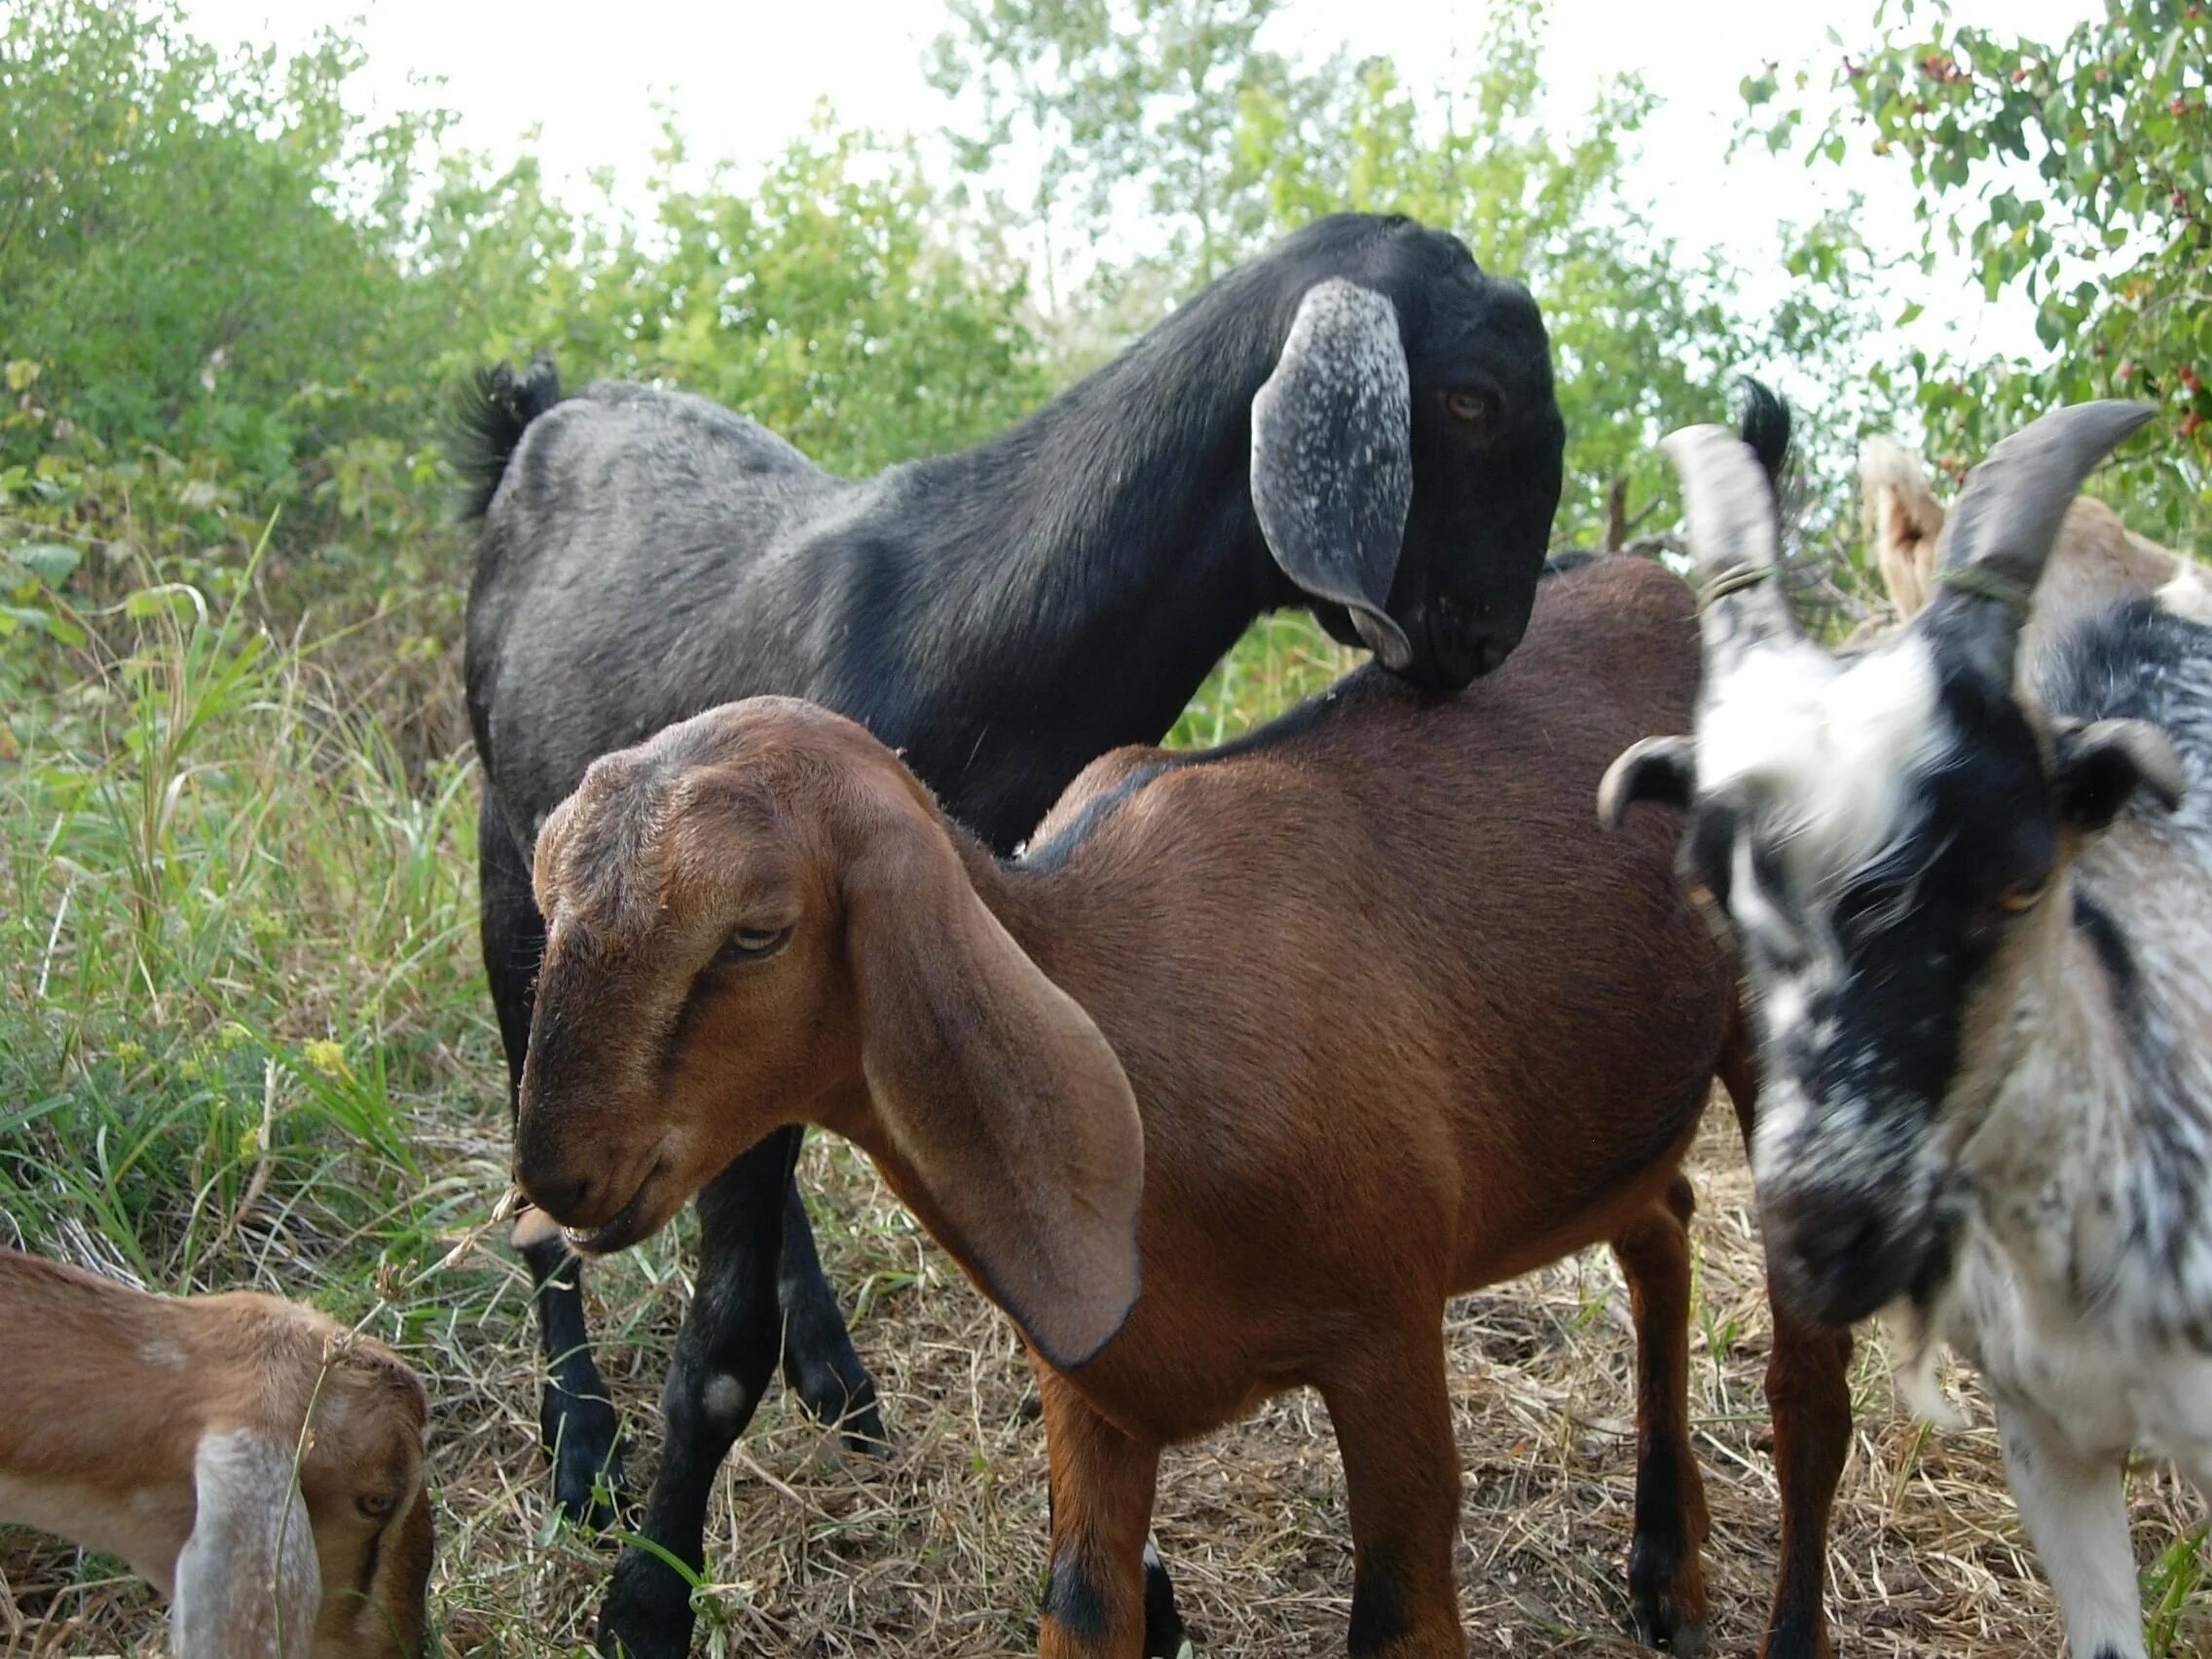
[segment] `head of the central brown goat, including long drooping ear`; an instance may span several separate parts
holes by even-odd
[[[1128,1079],[865,730],[761,697],[604,757],[546,821],[535,883],[515,1172],[577,1248],[648,1237],[761,1135],[816,1121],[1051,1363],[1121,1327]]]

